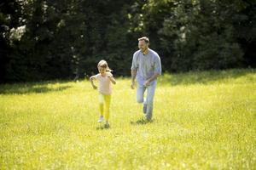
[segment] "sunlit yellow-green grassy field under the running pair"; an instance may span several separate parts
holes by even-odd
[[[0,169],[256,169],[256,71],[165,74],[140,122],[130,80],[110,128],[88,80],[0,85]]]

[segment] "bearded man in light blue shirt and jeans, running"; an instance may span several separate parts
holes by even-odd
[[[143,113],[148,121],[152,118],[154,90],[157,77],[161,74],[160,56],[154,50],[148,48],[148,37],[138,38],[137,52],[133,54],[131,64],[131,88],[135,87],[137,79],[137,102],[143,103]],[[144,99],[144,92],[147,89],[147,97]]]

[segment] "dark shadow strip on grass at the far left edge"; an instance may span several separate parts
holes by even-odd
[[[50,85],[58,83],[55,88]],[[63,82],[64,83],[64,82]],[[0,86],[0,94],[42,94],[50,92],[58,92],[72,88],[72,86],[61,85],[60,82],[38,82],[38,83],[16,83],[3,84]]]

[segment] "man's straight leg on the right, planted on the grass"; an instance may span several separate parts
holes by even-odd
[[[147,112],[146,118],[148,121],[151,120],[153,115],[153,105],[154,105],[154,91],[156,87],[156,82],[147,88]]]

